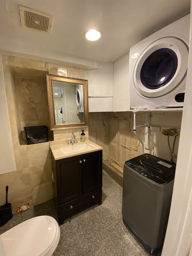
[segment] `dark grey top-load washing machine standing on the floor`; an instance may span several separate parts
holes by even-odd
[[[122,217],[150,254],[163,245],[176,164],[150,154],[125,162]]]

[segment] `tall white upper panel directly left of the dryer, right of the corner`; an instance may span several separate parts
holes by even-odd
[[[129,53],[113,63],[113,111],[130,110]]]

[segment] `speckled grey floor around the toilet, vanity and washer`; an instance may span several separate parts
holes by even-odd
[[[67,219],[60,226],[61,236],[53,255],[149,256],[123,223],[121,208],[122,187],[103,173],[102,205],[93,206]],[[14,213],[13,218],[0,228],[0,232],[38,215],[50,215],[57,219],[53,200],[30,207],[26,212]]]

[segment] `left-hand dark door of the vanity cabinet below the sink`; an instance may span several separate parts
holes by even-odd
[[[58,206],[82,196],[81,155],[56,160]]]

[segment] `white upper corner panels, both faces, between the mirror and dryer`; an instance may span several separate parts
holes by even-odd
[[[101,65],[101,68],[85,71],[88,80],[89,112],[114,112],[130,110],[129,53]]]

